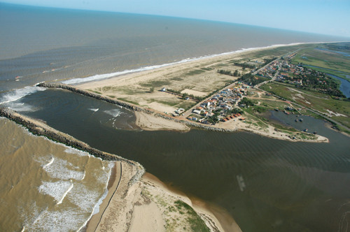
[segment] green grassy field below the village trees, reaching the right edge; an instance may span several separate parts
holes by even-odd
[[[268,92],[272,92],[278,96],[294,101],[307,108],[318,110],[325,115],[332,115],[332,119],[346,126],[350,126],[350,102],[332,99],[326,94],[321,94],[314,91],[295,88],[293,85],[288,85],[279,82],[269,82],[260,87]],[[335,116],[335,114],[340,114]]]

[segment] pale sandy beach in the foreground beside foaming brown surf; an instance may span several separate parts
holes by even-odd
[[[225,210],[169,189],[157,177],[146,173],[131,184],[134,166],[116,162],[109,192],[92,216],[86,231],[193,231],[188,219],[196,217],[210,231],[241,231]],[[192,210],[181,208],[190,205]],[[188,210],[188,211],[186,211]]]

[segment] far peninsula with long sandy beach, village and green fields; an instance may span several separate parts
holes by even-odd
[[[321,72],[311,73],[311,69],[295,64],[294,59],[302,52],[322,46],[327,45],[302,44],[234,52],[86,82],[77,87],[144,109],[136,110],[135,114],[137,124],[145,130],[188,131],[190,127],[244,130],[283,140],[328,142],[328,138],[316,131],[297,131],[270,122],[266,117],[269,110],[316,115],[338,129],[349,129],[349,117],[344,113],[348,108],[343,101],[346,98],[336,89],[337,82],[323,73],[322,81],[330,86],[328,89],[307,85],[314,77],[319,80]],[[292,78],[286,79],[288,75]],[[288,85],[288,91],[293,94],[289,98],[276,94],[272,88],[274,83]],[[327,108],[321,110],[316,102],[305,100],[305,91],[311,92],[305,93],[307,96],[328,99]],[[333,109],[334,101],[342,108]],[[340,117],[330,119],[330,112]]]

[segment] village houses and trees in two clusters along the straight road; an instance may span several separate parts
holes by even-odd
[[[281,57],[281,59],[275,59],[257,71],[252,77],[255,79],[261,77],[279,82],[288,82],[297,87],[306,86],[314,89],[319,87],[319,85],[330,85],[329,82],[332,82],[332,80],[325,73],[304,68],[301,64],[292,64],[292,59],[295,55],[296,53],[294,52]],[[213,125],[218,122],[235,121],[236,119],[244,122],[245,117],[242,116],[244,111],[241,108],[249,107],[250,100],[245,97],[248,95],[249,87],[251,87],[249,83],[241,81],[234,82],[232,85],[216,92],[209,99],[197,104],[191,110],[186,111],[183,108],[179,108],[172,113],[172,116],[182,116],[193,122]],[[162,89],[162,91],[165,90],[165,88]],[[318,90],[324,91],[324,89],[319,88]],[[188,97],[186,99],[188,100]],[[293,110],[293,108],[288,106],[284,112],[288,113],[288,111]]]

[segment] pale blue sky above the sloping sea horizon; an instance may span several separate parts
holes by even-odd
[[[350,37],[350,0],[0,0],[0,2],[188,17]]]

